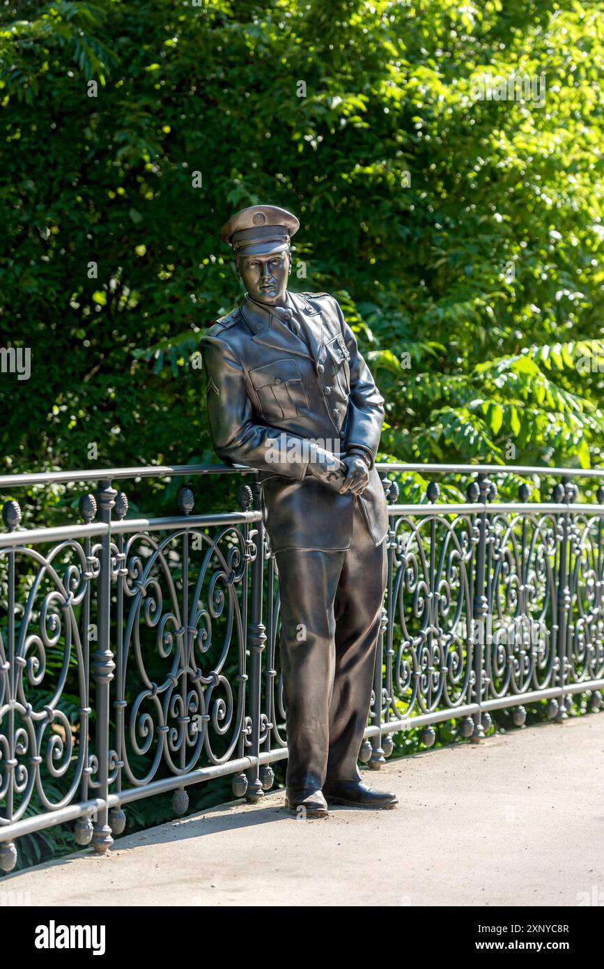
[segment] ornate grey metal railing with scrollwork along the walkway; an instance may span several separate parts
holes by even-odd
[[[388,501],[388,579],[370,725],[361,760],[378,767],[392,735],[455,719],[479,741],[490,711],[547,700],[563,720],[573,695],[593,710],[604,687],[604,472],[498,465],[378,465]],[[408,476],[468,476],[467,500],[428,485],[397,504]],[[122,480],[247,476],[240,511],[128,517]],[[541,475],[555,485],[532,500]],[[524,479],[498,502],[495,479]],[[577,501],[584,483],[590,500]],[[99,853],[125,827],[123,806],[232,774],[257,800],[287,757],[277,649],[278,578],[244,468],[119,468],[0,477],[0,491],[97,484],[81,524],[25,529],[3,508],[0,536],[0,865],[15,839],[76,820]],[[599,484],[599,486],[597,486]],[[449,487],[452,487],[449,485]],[[597,490],[592,495],[593,488]],[[459,490],[456,492],[459,499]],[[359,590],[362,594],[362,590]]]

